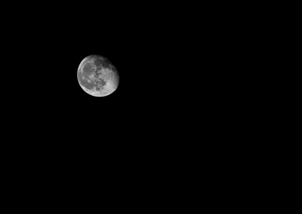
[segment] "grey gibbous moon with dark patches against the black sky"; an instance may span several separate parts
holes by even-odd
[[[107,58],[91,55],[83,59],[79,65],[78,80],[88,94],[104,97],[117,89],[119,75]]]

